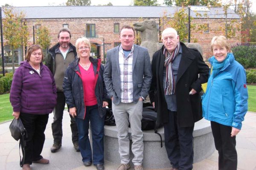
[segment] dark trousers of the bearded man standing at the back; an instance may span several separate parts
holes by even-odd
[[[57,105],[53,110],[53,122],[52,122],[52,136],[53,142],[61,144],[62,142],[62,119],[63,119],[63,111],[65,108],[65,95],[63,92],[57,92]],[[70,127],[72,132],[72,142],[78,142],[78,130],[76,125],[76,119],[70,116]]]

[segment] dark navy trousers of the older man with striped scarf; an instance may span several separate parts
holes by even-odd
[[[193,127],[179,127],[177,112],[168,111],[168,123],[164,125],[165,147],[172,167],[179,170],[193,168]]]

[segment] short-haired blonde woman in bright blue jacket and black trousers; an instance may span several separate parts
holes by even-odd
[[[226,37],[213,37],[211,50],[212,67],[202,96],[203,116],[211,121],[219,170],[236,170],[236,135],[248,108],[246,74],[231,53]]]

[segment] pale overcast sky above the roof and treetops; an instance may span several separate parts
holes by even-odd
[[[228,1],[228,0],[222,0]],[[252,10],[256,13],[256,0],[250,0],[252,4]],[[66,3],[67,0],[1,0],[0,6],[8,3],[12,6],[58,6]],[[104,5],[111,2],[113,6],[129,6],[133,0],[91,0],[91,5]],[[163,4],[163,0],[158,0],[159,4]]]

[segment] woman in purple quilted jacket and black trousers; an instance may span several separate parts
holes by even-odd
[[[49,160],[41,156],[44,146],[44,130],[49,113],[56,105],[56,87],[54,77],[47,66],[40,45],[31,45],[26,53],[26,61],[20,62],[12,79],[10,102],[12,116],[20,117],[27,131],[23,170],[31,170],[30,164],[48,164]]]

